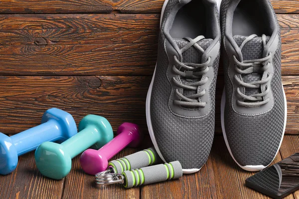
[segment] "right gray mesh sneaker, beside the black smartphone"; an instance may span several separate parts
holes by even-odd
[[[221,25],[224,139],[242,169],[259,171],[274,160],[286,129],[280,26],[270,0],[223,0]]]

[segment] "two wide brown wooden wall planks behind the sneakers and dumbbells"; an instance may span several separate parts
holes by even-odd
[[[132,4],[142,10],[146,2]],[[299,134],[299,14],[278,18],[289,109],[286,133]],[[146,131],[145,100],[156,61],[158,21],[157,13],[0,14],[2,131],[14,134],[38,125],[51,107],[70,112],[76,122],[99,114],[114,130],[128,121]],[[220,65],[217,133],[222,73]]]

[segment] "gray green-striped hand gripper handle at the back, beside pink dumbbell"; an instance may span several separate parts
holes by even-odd
[[[161,159],[154,148],[151,147],[124,158],[111,161],[108,166],[112,166],[117,174],[121,174],[123,171],[148,167],[158,162],[161,162]]]

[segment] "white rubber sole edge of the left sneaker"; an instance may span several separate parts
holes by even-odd
[[[218,10],[220,10],[221,1],[222,0],[217,0]],[[163,6],[162,6],[161,17],[160,17],[160,26],[161,26],[163,13],[164,13],[167,3],[168,3],[168,0],[165,0],[163,3]],[[151,125],[151,118],[150,118],[150,97],[151,97],[151,90],[152,90],[152,84],[153,84],[153,80],[154,80],[155,71],[156,71],[156,69],[154,69],[152,79],[151,79],[151,82],[149,85],[149,91],[148,91],[147,101],[146,101],[146,116],[147,116],[147,124],[148,124],[149,136],[150,136],[151,142],[152,142],[157,154],[159,155],[159,157],[162,159],[162,161],[164,161],[166,163],[164,157],[162,156],[162,154],[159,150],[156,139],[154,137],[154,133],[153,133],[152,125]],[[183,169],[182,171],[183,171],[183,174],[193,174],[193,173],[198,172],[200,169],[201,168],[199,168],[199,169]]]

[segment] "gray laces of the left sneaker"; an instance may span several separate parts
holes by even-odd
[[[204,53],[204,49],[197,44],[198,41],[204,38],[204,36],[198,36],[195,39],[185,37],[184,39],[189,41],[189,43],[180,49],[181,53],[185,52],[191,46],[194,46],[201,53]],[[178,89],[176,89],[175,94],[180,100],[174,100],[175,105],[188,108],[200,108],[206,106],[206,102],[199,102],[199,98],[206,93],[206,90],[204,89],[199,92],[198,87],[204,85],[208,81],[208,77],[202,78],[202,76],[209,71],[208,65],[210,61],[211,57],[209,57],[205,63],[182,63],[174,55],[175,63],[172,66],[172,71],[179,76],[179,81],[176,80],[175,77],[172,77],[174,85],[185,90],[197,91],[196,94],[184,95],[183,93],[180,93]],[[187,81],[183,83],[181,78],[185,78]],[[200,79],[200,81],[191,81],[194,79]]]

